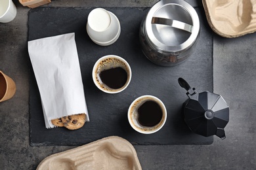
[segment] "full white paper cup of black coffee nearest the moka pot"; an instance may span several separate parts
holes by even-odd
[[[167,110],[163,102],[152,95],[142,95],[131,103],[128,110],[129,124],[139,133],[151,134],[165,124]]]

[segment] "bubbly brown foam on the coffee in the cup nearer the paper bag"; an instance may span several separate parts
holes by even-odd
[[[102,80],[100,78],[100,73],[102,71],[105,71],[105,70],[108,70],[108,69],[114,69],[116,67],[121,67],[122,69],[124,69],[126,71],[127,81],[125,82],[125,85],[127,84],[128,80],[129,80],[129,77],[131,76],[129,74],[128,66],[123,61],[121,61],[120,59],[110,57],[110,58],[106,58],[106,59],[100,61],[100,63],[98,63],[98,65],[96,67],[96,70],[95,70],[96,82],[98,83],[98,85],[100,85],[100,88],[102,88],[104,90],[111,91],[111,92],[115,92],[115,91],[120,90],[120,88],[119,89],[112,89],[112,88],[108,87],[106,84],[104,84],[102,82]],[[123,87],[125,87],[125,85]]]

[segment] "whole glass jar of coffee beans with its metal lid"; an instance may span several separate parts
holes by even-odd
[[[200,34],[196,10],[182,0],[162,0],[148,12],[140,25],[144,55],[161,66],[175,66],[194,51]]]

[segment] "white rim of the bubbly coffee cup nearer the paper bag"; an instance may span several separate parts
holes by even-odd
[[[120,88],[120,90],[115,90],[115,91],[103,90],[102,88],[100,88],[100,85],[96,82],[96,78],[95,78],[95,70],[96,70],[96,67],[98,66],[98,63],[100,63],[100,61],[102,61],[103,59],[106,59],[106,58],[117,58],[117,59],[123,61],[123,62],[125,63],[125,65],[127,65],[127,68],[129,69],[129,75],[130,75],[130,76],[129,76],[129,78],[128,78],[128,81],[127,81],[127,83],[125,84],[125,86],[123,86],[122,88]],[[131,72],[131,67],[130,67],[129,63],[128,63],[125,59],[121,58],[120,56],[116,56],[116,55],[110,54],[110,55],[107,55],[107,56],[103,56],[103,57],[99,58],[99,59],[96,61],[95,65],[93,66],[93,73],[92,73],[92,76],[93,76],[93,82],[94,82],[94,84],[95,84],[96,87],[97,87],[99,90],[101,90],[102,92],[105,92],[105,93],[119,93],[119,92],[122,92],[123,90],[125,90],[125,89],[129,86],[129,84],[130,84],[130,82],[131,82],[132,72]]]

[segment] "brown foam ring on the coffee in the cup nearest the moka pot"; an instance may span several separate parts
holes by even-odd
[[[161,118],[161,121],[156,126],[148,127],[148,126],[140,125],[139,121],[138,121],[138,116],[139,116],[138,109],[146,101],[154,101],[154,102],[158,103],[158,105],[161,107],[161,111],[164,112],[163,106],[160,105],[160,103],[158,101],[156,101],[155,99],[152,99],[150,97],[145,97],[145,98],[137,100],[133,104],[133,106],[131,107],[131,111],[129,112],[129,116],[130,116],[133,124],[136,126],[136,128],[140,129],[141,131],[154,131],[155,129],[158,129],[161,126],[161,124],[163,124],[163,121],[165,120],[165,116],[163,115],[163,117]]]

